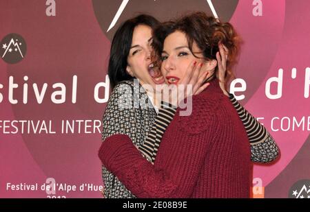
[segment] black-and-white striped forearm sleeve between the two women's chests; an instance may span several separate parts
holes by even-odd
[[[166,102],[161,102],[161,108],[158,110],[158,115],[151,132],[147,135],[147,139],[143,145],[138,147],[142,154],[145,155],[152,164],[154,164],[163,134],[169,126],[169,123],[174,118],[175,113],[175,106]]]

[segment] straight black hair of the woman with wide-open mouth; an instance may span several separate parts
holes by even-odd
[[[126,67],[127,57],[132,45],[134,28],[138,25],[147,25],[154,30],[159,24],[160,22],[153,16],[140,14],[125,21],[120,27],[118,27],[112,40],[109,67],[107,69],[112,89],[114,89],[116,84],[123,80],[133,79],[133,77],[127,73]]]

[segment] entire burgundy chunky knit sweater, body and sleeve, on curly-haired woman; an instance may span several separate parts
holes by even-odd
[[[249,198],[250,146],[218,80],[193,96],[192,115],[176,111],[154,165],[129,137],[103,141],[99,158],[138,198]]]

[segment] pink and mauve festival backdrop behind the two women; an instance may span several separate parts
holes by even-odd
[[[138,0],[136,0],[137,2]],[[83,122],[79,133],[62,133],[62,120],[101,120],[105,103],[96,102],[94,88],[99,82],[106,82],[107,60],[110,51],[110,37],[106,32],[114,14],[122,1],[78,1],[56,2],[56,16],[45,14],[45,1],[3,0],[0,2],[0,39],[16,33],[27,44],[25,57],[21,62],[9,64],[0,60],[0,197],[2,198],[46,198],[41,189],[17,191],[12,185],[43,185],[47,178],[54,178],[59,185],[76,185],[76,191],[56,191],[54,196],[67,198],[100,198],[97,191],[101,186],[101,163],[97,150],[101,144],[101,133],[92,127],[85,130]],[[133,3],[134,0],[132,1]],[[161,14],[152,10],[150,4],[164,5],[168,1],[141,1],[141,8],[130,6],[124,10],[115,28],[136,12],[148,12],[158,19]],[[287,198],[289,189],[295,182],[310,179],[310,102],[304,97],[310,73],[310,2],[307,0],[262,0],[262,16],[254,16],[256,7],[253,0],[235,1],[234,9],[225,8],[225,1],[214,4],[220,13],[231,10],[227,16],[244,41],[240,62],[236,67],[237,78],[247,83],[245,95],[240,102],[267,127],[276,139],[281,156],[271,165],[254,165],[254,178],[262,182],[267,198]],[[198,6],[204,3],[205,9]],[[143,4],[145,4],[143,9]],[[188,1],[190,10],[209,11],[207,1]],[[197,4],[195,8],[195,4]],[[100,8],[101,7],[101,8]],[[222,10],[222,8],[223,10]],[[116,8],[116,9],[115,9]],[[151,9],[149,9],[151,8]],[[170,8],[171,9],[171,8]],[[103,10],[107,14],[102,15]],[[173,10],[173,9],[172,9]],[[178,5],[176,14],[189,10],[186,4]],[[167,13],[167,12],[166,12]],[[103,20],[103,16],[105,19]],[[1,43],[2,47],[3,43]],[[2,56],[2,55],[1,55]],[[296,78],[291,78],[296,68]],[[270,99],[265,94],[269,78],[278,77],[283,69],[282,97]],[[309,71],[310,72],[310,71]],[[23,77],[28,80],[28,102],[23,104]],[[76,103],[71,102],[72,78],[77,76]],[[14,89],[12,104],[8,97],[9,78],[19,87]],[[54,104],[51,95],[57,89],[52,85],[61,82],[66,87],[65,103]],[[307,83],[308,82],[308,83]],[[48,84],[42,104],[38,104],[32,84],[41,90]],[[2,85],[2,86],[1,86]],[[59,89],[58,89],[59,90]],[[307,89],[306,89],[307,90]],[[107,97],[105,90],[99,90],[101,98]],[[271,85],[271,93],[276,93],[276,84]],[[5,121],[33,120],[51,121],[51,131],[10,132],[3,130]],[[295,122],[294,122],[295,121]],[[77,122],[76,122],[77,123]],[[300,124],[301,123],[301,124]],[[91,122],[89,122],[92,126]],[[76,125],[77,126],[77,125]],[[88,131],[92,131],[88,133]],[[11,131],[12,132],[12,131]],[[257,181],[254,181],[256,185]],[[94,186],[94,190],[81,185]]]

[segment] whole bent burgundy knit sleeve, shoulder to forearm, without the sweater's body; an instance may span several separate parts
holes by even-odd
[[[199,104],[196,105],[193,119],[180,117],[176,112],[168,128],[168,134],[173,136],[163,139],[154,165],[147,162],[123,134],[108,137],[102,143],[99,158],[103,165],[138,198],[188,198],[219,128],[212,109],[203,106],[201,110]],[[203,130],[195,130],[194,134],[180,130],[198,123],[203,123],[200,125]]]

